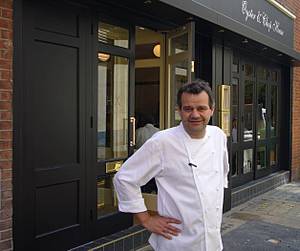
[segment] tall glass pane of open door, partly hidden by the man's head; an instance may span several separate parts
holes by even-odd
[[[188,61],[184,60],[182,62],[178,62],[174,65],[170,65],[170,80],[171,80],[171,89],[173,90],[171,93],[172,99],[172,107],[174,114],[172,119],[173,125],[178,125],[180,123],[180,116],[176,109],[176,97],[177,91],[179,88],[188,81]]]

